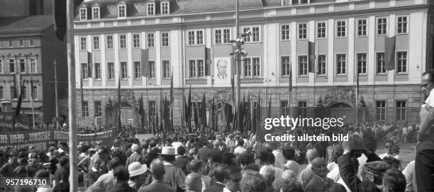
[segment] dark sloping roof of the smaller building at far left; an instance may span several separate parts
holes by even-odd
[[[52,23],[51,15],[0,18],[0,33],[42,31]]]

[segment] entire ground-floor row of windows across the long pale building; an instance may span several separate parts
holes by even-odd
[[[1,86],[0,86],[1,87]],[[0,92],[1,93],[1,92]],[[193,103],[195,104],[195,103]],[[199,103],[201,104],[201,103]],[[256,106],[256,102],[252,103],[252,106]],[[406,101],[396,101],[396,120],[406,120]],[[282,108],[282,115],[289,115],[290,109],[287,107],[288,101],[280,101],[280,107]],[[199,106],[200,108],[201,106]],[[149,114],[154,117],[157,113],[155,101],[148,101]],[[94,101],[94,115],[101,116],[101,101]],[[298,115],[302,118],[307,117],[307,101],[298,102]],[[89,103],[88,101],[83,101],[82,103],[82,115],[89,116]],[[375,106],[375,118],[376,120],[386,120],[386,101],[376,101]]]

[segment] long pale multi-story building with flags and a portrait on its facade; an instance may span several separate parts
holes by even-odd
[[[271,97],[273,115],[290,113],[288,106],[306,115],[321,100],[330,115],[352,122],[358,72],[369,119],[416,121],[421,74],[433,63],[432,4],[242,0],[240,32],[252,35],[243,46],[248,55],[241,62],[241,92],[252,102],[260,94],[262,107]],[[193,100],[201,101],[205,92],[208,103],[215,96],[218,110],[222,101],[233,104],[235,0],[87,1],[79,6],[74,29],[82,126],[95,118],[116,125],[118,82],[125,123],[137,124],[141,95],[147,113],[155,115],[160,93],[169,94],[171,75],[177,125],[190,86]],[[394,69],[386,70],[385,41],[391,37]],[[313,60],[308,42],[314,45]],[[309,72],[310,62],[315,73]]]

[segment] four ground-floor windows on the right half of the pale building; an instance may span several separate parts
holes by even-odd
[[[396,114],[395,120],[406,120],[406,101],[396,101]],[[290,108],[288,108],[288,101],[280,101],[280,107],[282,108],[282,115],[290,115]],[[302,118],[308,117],[307,101],[298,102],[298,115]],[[386,101],[376,101],[375,106],[375,119],[386,120]]]

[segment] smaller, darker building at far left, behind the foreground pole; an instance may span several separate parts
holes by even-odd
[[[23,90],[21,120],[28,126],[55,117],[55,60],[58,96],[67,96],[66,44],[52,23],[43,15],[0,18],[0,101],[12,101],[14,110]]]

